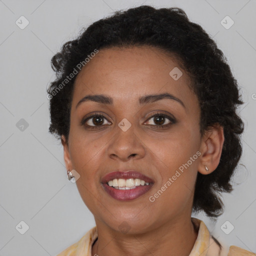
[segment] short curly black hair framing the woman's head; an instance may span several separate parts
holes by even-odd
[[[217,217],[223,213],[220,192],[232,191],[230,178],[242,152],[239,134],[243,131],[243,122],[236,108],[243,102],[226,57],[200,25],[189,21],[183,9],[141,5],[115,11],[81,30],[76,39],[64,43],[60,52],[51,58],[56,79],[47,88],[49,132],[58,138],[64,135],[68,140],[77,73],[68,77],[66,85],[63,81],[74,73],[78,63],[84,62],[95,49],[138,45],[154,46],[178,57],[180,66],[190,76],[189,86],[200,104],[201,135],[215,124],[223,127],[220,162],[210,174],[197,173],[192,208]]]

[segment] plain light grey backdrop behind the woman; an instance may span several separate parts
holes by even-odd
[[[194,216],[217,239],[256,251],[255,0],[0,0],[0,255],[55,255],[94,226],[75,183],[66,178],[60,141],[48,133],[50,58],[83,26],[141,4],[183,8],[214,37],[241,86],[239,184],[223,194],[225,213],[215,223]],[[15,24],[21,15],[29,21],[24,29]],[[220,23],[226,15],[234,21],[229,29]],[[28,123],[23,130],[21,118]],[[29,226],[24,234],[21,220]],[[234,226],[229,234],[220,228],[226,220]]]

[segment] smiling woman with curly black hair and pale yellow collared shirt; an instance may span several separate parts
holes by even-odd
[[[52,57],[49,131],[96,226],[62,255],[255,255],[191,212],[222,213],[241,155],[237,82],[180,8],[98,20]]]

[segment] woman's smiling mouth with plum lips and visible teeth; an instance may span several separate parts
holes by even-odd
[[[104,190],[117,200],[133,200],[151,189],[154,181],[135,170],[113,171],[101,180]]]

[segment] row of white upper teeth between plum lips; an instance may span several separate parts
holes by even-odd
[[[114,178],[113,180],[109,180],[107,184],[116,189],[132,189],[139,185],[148,185],[149,183],[139,178]]]

